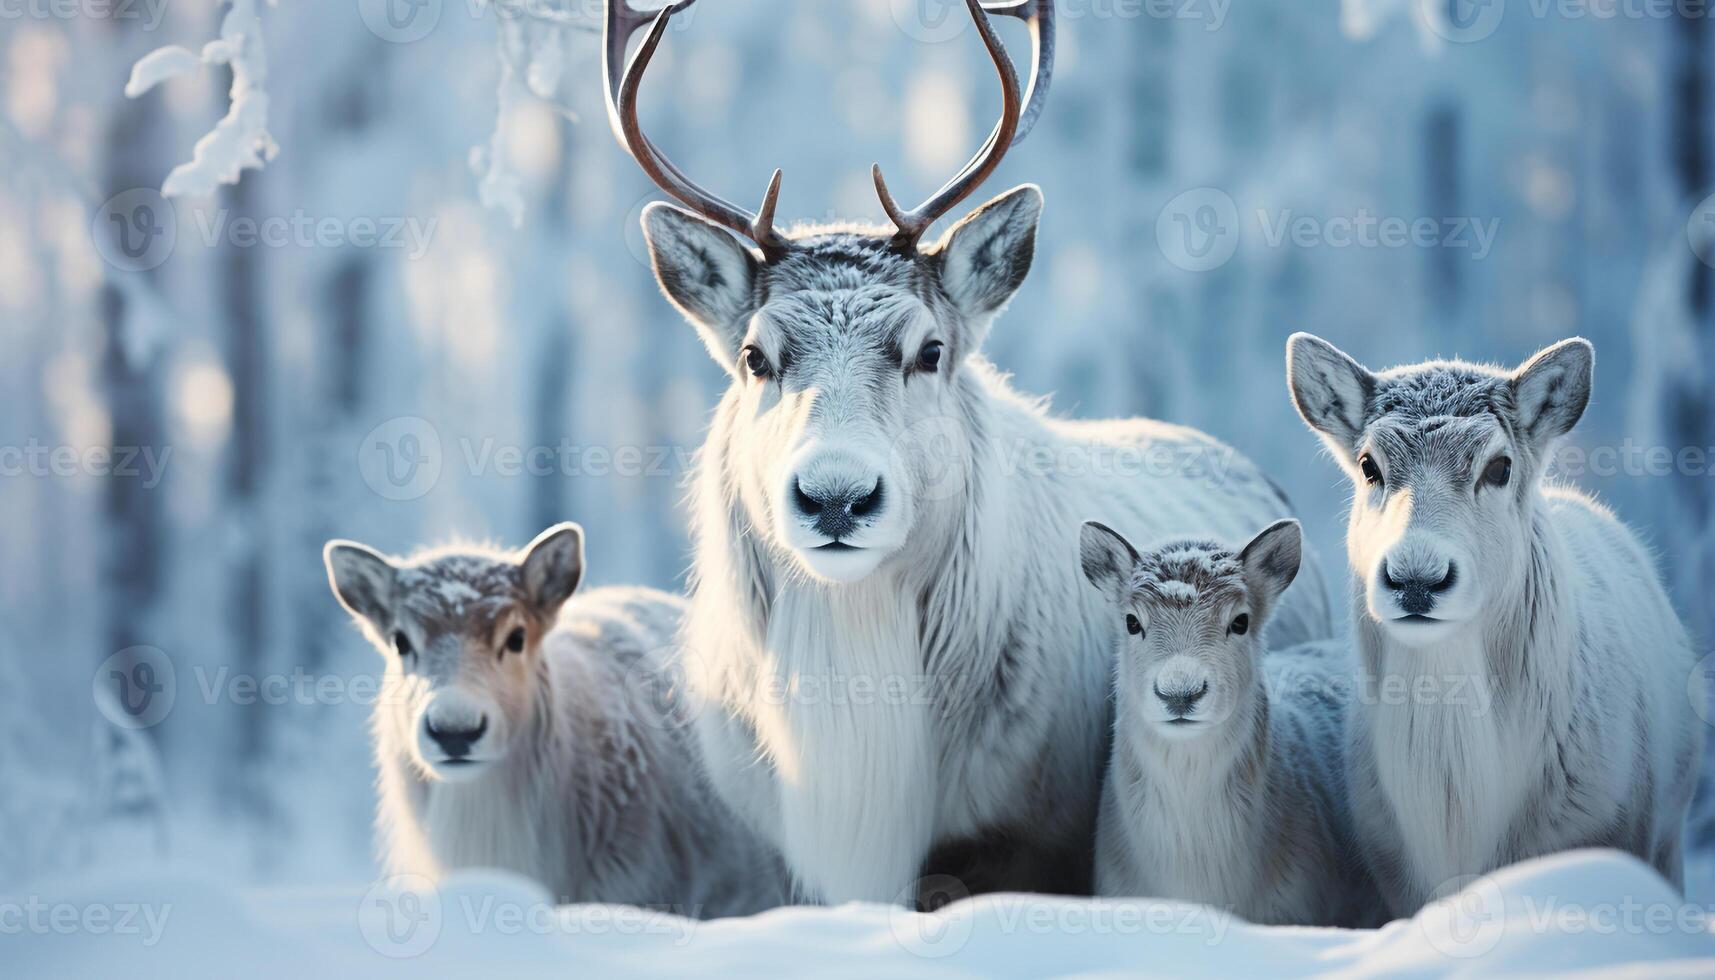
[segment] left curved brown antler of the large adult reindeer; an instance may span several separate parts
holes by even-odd
[[[626,5],[626,0],[607,0],[602,67],[607,76],[609,125],[612,125],[619,146],[636,160],[638,166],[662,191],[677,197],[703,218],[756,242],[763,256],[777,257],[791,247],[791,240],[773,227],[773,211],[780,197],[779,170],[773,172],[773,178],[768,182],[761,211],[751,215],[744,208],[698,187],[695,180],[686,177],[683,170],[655,148],[638,122],[638,88],[643,82],[643,72],[648,70],[650,58],[655,57],[655,48],[660,46],[660,39],[667,33],[667,21],[695,2],[677,0],[655,14],[641,14]],[[645,22],[650,24],[650,31],[643,36],[636,55],[631,57],[631,64],[621,70],[619,65],[624,60],[626,43]]]

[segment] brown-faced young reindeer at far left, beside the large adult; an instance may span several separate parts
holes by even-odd
[[[715,796],[696,740],[640,697],[674,669],[681,599],[635,587],[573,599],[575,523],[518,554],[394,561],[333,541],[326,561],[388,659],[374,738],[389,872],[496,867],[563,903],[688,916],[787,899],[779,855]]]

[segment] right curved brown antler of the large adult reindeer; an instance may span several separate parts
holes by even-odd
[[[1000,122],[995,124],[993,132],[988,134],[988,141],[964,165],[964,170],[911,211],[902,211],[887,191],[887,182],[882,178],[882,165],[876,163],[871,168],[875,192],[882,197],[882,209],[887,211],[888,220],[899,228],[894,235],[894,244],[900,249],[914,251],[923,233],[930,230],[930,225],[952,211],[988,180],[988,175],[1000,166],[1000,160],[1007,151],[1017,146],[1036,125],[1038,117],[1043,113],[1043,103],[1048,98],[1048,86],[1053,82],[1055,0],[1008,0],[1007,3],[993,5],[984,5],[979,0],[966,0],[966,5],[971,9],[971,19],[983,38],[983,46],[988,48],[988,55],[995,60],[995,70],[1000,74]],[[1031,27],[1031,86],[1022,98],[1019,94],[1019,72],[1012,67],[1000,36],[995,34],[995,26],[988,19],[990,14],[1017,17]]]

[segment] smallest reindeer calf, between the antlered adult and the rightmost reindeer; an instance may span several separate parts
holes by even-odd
[[[1346,644],[1269,652],[1298,575],[1281,520],[1242,549],[1171,541],[1139,554],[1086,523],[1084,577],[1125,623],[1096,891],[1226,908],[1264,925],[1377,922],[1345,786]]]

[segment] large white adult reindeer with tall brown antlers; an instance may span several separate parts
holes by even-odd
[[[636,93],[674,9],[621,72],[645,17],[609,5],[616,134],[691,208],[645,209],[655,275],[731,374],[691,494],[698,733],[715,786],[811,899],[911,901],[926,863],[972,891],[1087,892],[1113,637],[1074,565],[1079,522],[1240,534],[1288,510],[1200,433],[1051,419],[981,357],[1031,268],[1041,192],[923,237],[1039,113],[1053,5],[996,9],[1031,27],[1027,93],[967,7],[1002,84],[988,144],[911,211],[876,168],[892,228],[785,233],[779,172],[751,215],[643,136]],[[1327,635],[1322,589],[1310,570],[1286,638]]]

